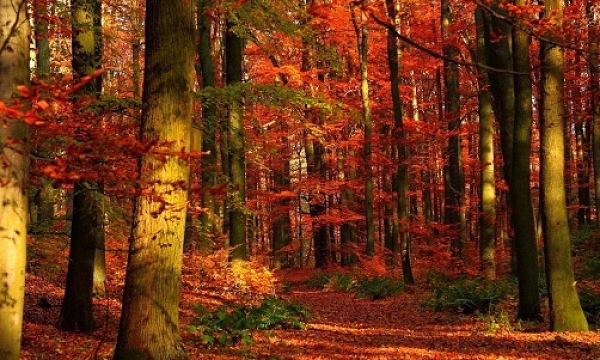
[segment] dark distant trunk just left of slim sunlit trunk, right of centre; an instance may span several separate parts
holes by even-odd
[[[449,26],[452,22],[450,1],[442,0],[442,36],[449,37]],[[451,44],[444,44],[443,54],[446,58],[455,58],[458,49]],[[460,131],[460,95],[458,94],[458,65],[444,61],[445,113],[448,116],[448,130]],[[462,257],[466,238],[466,221],[464,214],[464,172],[460,134],[452,134],[448,146],[448,165],[446,166],[445,188],[445,223],[452,225],[451,251],[454,257]]]

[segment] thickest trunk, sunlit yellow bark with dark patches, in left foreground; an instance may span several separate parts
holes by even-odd
[[[194,3],[146,1],[142,140],[190,149],[195,58]],[[190,166],[142,155],[115,360],[187,359],[179,335],[179,286]],[[165,204],[168,204],[166,208]]]

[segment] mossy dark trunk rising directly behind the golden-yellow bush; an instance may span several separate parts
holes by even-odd
[[[233,24],[227,22],[225,35],[226,80],[227,85],[236,86],[242,82],[242,38],[232,31]],[[247,260],[246,248],[246,179],[244,158],[244,118],[242,100],[235,99],[229,104],[229,170],[232,186],[232,203],[229,210],[229,246],[232,247],[232,260]]]

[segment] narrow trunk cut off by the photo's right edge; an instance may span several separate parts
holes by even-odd
[[[596,229],[600,229],[600,89],[598,82],[600,74],[598,73],[598,14],[594,14],[593,4],[595,1],[587,1],[587,17],[590,24],[589,30],[589,70],[590,70],[590,108],[592,109],[592,151],[594,166],[594,187],[596,197]],[[594,55],[596,54],[596,55]]]

